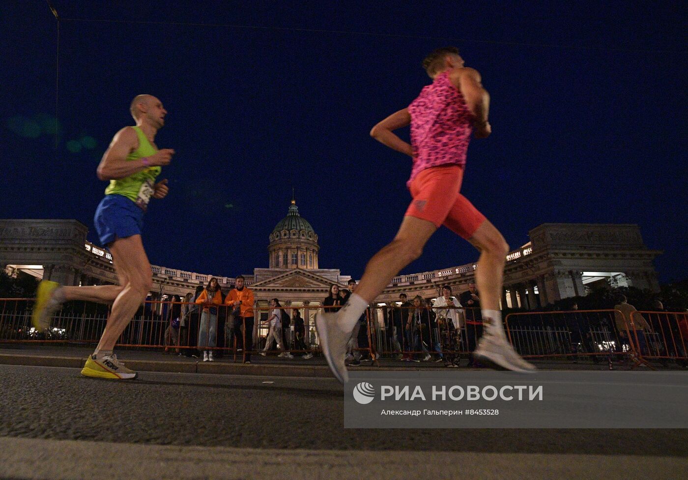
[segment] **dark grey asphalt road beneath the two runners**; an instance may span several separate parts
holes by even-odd
[[[143,372],[135,381],[111,382],[81,377],[74,368],[0,365],[0,395],[0,437],[139,444],[141,452],[169,445],[285,455],[389,450],[388,458],[406,451],[407,460],[433,452],[549,455],[552,461],[592,455],[627,466],[626,456],[637,456],[650,463],[674,459],[682,468],[688,457],[688,430],[344,429],[342,388],[328,378]]]

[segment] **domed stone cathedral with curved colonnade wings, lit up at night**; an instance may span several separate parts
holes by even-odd
[[[66,285],[116,284],[111,256],[87,242],[87,227],[77,220],[0,220],[0,269]],[[562,298],[585,295],[592,286],[622,285],[658,291],[652,260],[638,225],[557,224],[529,231],[530,242],[507,255],[502,307],[538,309]],[[319,268],[318,236],[292,200],[287,216],[268,238],[268,268],[244,275],[258,307],[279,298],[292,307],[318,306],[330,285],[346,288],[349,275]],[[180,267],[180,266],[175,266]],[[455,293],[475,279],[475,263],[395,277],[376,302],[420,294],[435,298],[443,284]],[[153,265],[151,298],[184,295],[217,277],[225,291],[235,279]],[[284,304],[284,303],[283,303]]]

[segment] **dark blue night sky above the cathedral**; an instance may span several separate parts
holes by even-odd
[[[687,276],[681,2],[52,3],[63,18],[56,149],[56,19],[45,1],[0,6],[0,218],[76,218],[97,242],[96,166],[133,123],[131,98],[151,93],[169,111],[158,145],[178,152],[162,175],[170,194],[146,218],[153,264],[268,267],[293,185],[320,267],[358,277],[409,202],[410,160],[369,129],[429,83],[427,52],[457,45],[482,73],[493,125],[471,143],[462,191],[511,247],[544,222],[637,223],[665,251],[660,279]],[[475,258],[442,229],[405,273]]]

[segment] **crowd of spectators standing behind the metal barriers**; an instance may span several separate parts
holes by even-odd
[[[254,349],[264,357],[275,354],[283,359],[310,359],[318,350],[312,315],[318,309],[338,311],[355,289],[355,280],[345,289],[332,284],[320,306],[303,302],[292,308],[289,300],[272,298],[269,310],[259,309],[261,315],[257,317],[253,292],[241,275],[226,295],[217,279],[211,278],[183,300],[178,295],[171,298],[165,314],[165,351],[197,356],[204,362],[233,351],[250,363]],[[456,368],[465,360],[465,366],[480,367],[471,355],[483,333],[480,292],[471,282],[466,291],[456,295],[449,285],[438,293],[436,298],[416,295],[410,300],[401,293],[398,301],[369,306],[347,344],[347,365],[374,362],[385,354],[400,362],[434,362]],[[614,306],[608,305],[608,309],[613,313],[581,311],[579,299],[573,299],[555,306],[548,315],[539,313],[539,319],[519,311],[509,325],[510,340],[526,355],[561,355],[574,363],[588,358],[597,364],[627,352],[636,355],[634,349],[644,356],[686,356],[687,315],[673,319],[640,315],[623,294],[616,295]],[[654,302],[653,311],[665,311],[659,300]],[[667,333],[670,342],[666,341]],[[550,340],[534,340],[538,335]],[[658,340],[660,336],[664,342]],[[666,364],[666,359],[660,362]]]

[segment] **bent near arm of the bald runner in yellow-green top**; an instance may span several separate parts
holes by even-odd
[[[138,148],[138,136],[131,127],[124,127],[112,139],[110,146],[100,160],[96,174],[100,180],[118,180],[143,171],[148,167],[169,165],[173,149],[164,148],[155,154],[127,161],[127,155]]]

